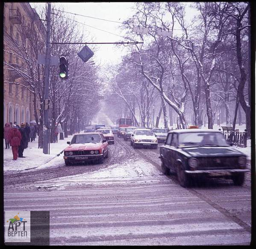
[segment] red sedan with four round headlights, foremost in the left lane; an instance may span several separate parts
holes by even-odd
[[[75,134],[67,144],[69,146],[65,148],[63,156],[65,165],[89,160],[103,163],[104,158],[109,156],[109,145],[102,133]]]

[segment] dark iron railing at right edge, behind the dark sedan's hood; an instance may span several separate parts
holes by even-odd
[[[247,131],[239,132],[239,130],[223,130],[225,139],[232,144],[247,147]]]

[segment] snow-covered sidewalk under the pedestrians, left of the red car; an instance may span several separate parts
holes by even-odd
[[[3,151],[3,170],[4,171],[23,171],[32,168],[44,168],[47,167],[45,164],[52,160],[58,153],[63,151],[67,146],[67,141],[72,139],[73,135],[69,135],[64,140],[59,140],[57,143],[50,144],[50,154],[44,154],[43,149],[38,149],[38,137],[33,142],[29,142],[28,148],[23,152],[26,158],[19,158],[13,160],[12,147],[9,149],[5,148]],[[63,157],[63,153],[60,155]],[[49,167],[49,166],[48,166]]]

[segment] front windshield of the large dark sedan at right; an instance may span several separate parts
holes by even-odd
[[[179,147],[229,146],[219,132],[190,132],[179,134]]]

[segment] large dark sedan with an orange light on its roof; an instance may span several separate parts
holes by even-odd
[[[219,130],[172,130],[160,147],[160,158],[164,174],[176,172],[182,187],[201,177],[231,178],[242,185],[249,171],[246,155],[232,148]]]

